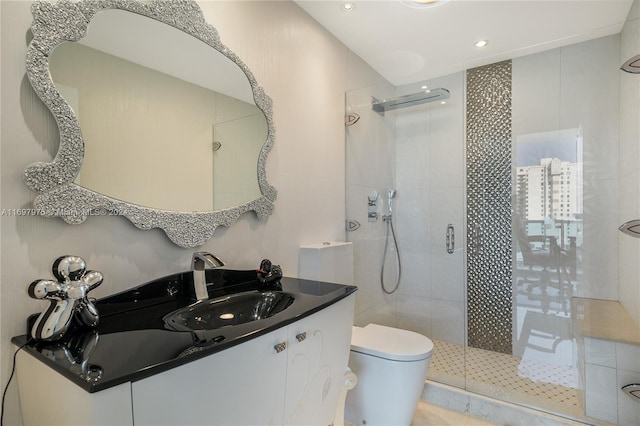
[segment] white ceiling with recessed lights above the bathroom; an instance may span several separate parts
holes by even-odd
[[[296,3],[395,86],[619,33],[632,0]],[[479,49],[474,42],[486,39]]]

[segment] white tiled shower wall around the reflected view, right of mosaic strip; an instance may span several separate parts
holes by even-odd
[[[513,60],[513,135],[581,129],[583,275],[574,295],[618,299],[619,36]]]

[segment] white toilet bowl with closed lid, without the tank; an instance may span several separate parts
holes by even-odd
[[[347,393],[345,420],[358,425],[410,425],[420,401],[433,342],[413,331],[353,327],[349,368],[358,384]]]

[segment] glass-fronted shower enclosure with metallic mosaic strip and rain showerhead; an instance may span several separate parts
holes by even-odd
[[[610,36],[346,94],[355,324],[429,337],[429,380],[622,424],[590,402],[591,340],[578,325],[585,301],[618,298],[617,52]],[[450,97],[372,108],[436,88]]]

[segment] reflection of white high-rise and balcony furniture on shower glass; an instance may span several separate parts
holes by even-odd
[[[573,407],[570,414],[577,415],[571,297],[582,277],[582,132],[518,135],[514,142],[516,380],[534,386],[543,407],[560,412]],[[554,398],[543,398],[550,394]]]

